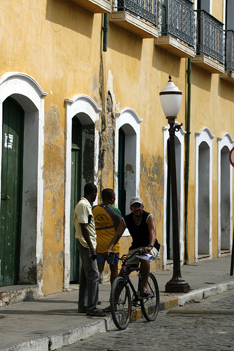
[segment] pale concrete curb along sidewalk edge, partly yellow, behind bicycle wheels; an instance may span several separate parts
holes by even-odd
[[[234,280],[222,284],[212,285],[207,288],[202,288],[180,296],[165,297],[160,301],[160,310],[170,309],[176,306],[184,305],[190,301],[197,301],[220,292],[234,289]],[[133,310],[132,320],[142,318],[140,310]],[[115,325],[111,317],[103,318],[102,320],[92,321],[84,326],[62,330],[54,335],[48,335],[43,338],[29,340],[18,345],[11,346],[2,351],[53,351],[62,346],[66,346],[80,339],[93,336],[97,333],[102,333],[114,329]]]

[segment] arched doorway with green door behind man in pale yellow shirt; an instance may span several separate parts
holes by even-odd
[[[87,95],[65,99],[65,243],[64,287],[78,280],[79,256],[73,222],[74,208],[86,183],[98,185],[99,132],[95,123],[101,108]]]

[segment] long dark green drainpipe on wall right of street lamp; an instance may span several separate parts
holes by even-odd
[[[189,175],[189,143],[190,143],[190,110],[191,110],[191,59],[187,62],[187,115],[185,135],[185,169],[184,169],[184,263],[188,264],[188,175]]]

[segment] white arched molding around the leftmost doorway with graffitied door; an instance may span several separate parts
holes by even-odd
[[[9,72],[0,77],[0,177],[4,100],[11,96],[25,112],[19,279],[21,283],[34,282],[29,275],[36,269],[37,281],[34,283],[37,283],[39,296],[42,295],[43,286],[44,98],[47,95],[36,80],[25,73]],[[0,187],[1,184],[2,180]]]

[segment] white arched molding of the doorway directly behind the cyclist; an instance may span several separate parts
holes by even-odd
[[[121,111],[120,115],[116,118],[115,124],[115,194],[116,204],[118,204],[118,150],[119,150],[119,129],[124,129],[125,140],[125,163],[130,163],[133,166],[135,173],[135,182],[132,182],[131,194],[126,197],[126,209],[130,199],[134,196],[140,196],[140,119],[138,114],[131,108],[125,108]],[[128,138],[129,136],[129,138]],[[133,137],[131,137],[133,136]],[[126,152],[127,150],[127,152]],[[134,169],[135,168],[135,169]],[[125,230],[124,235],[129,235]]]

